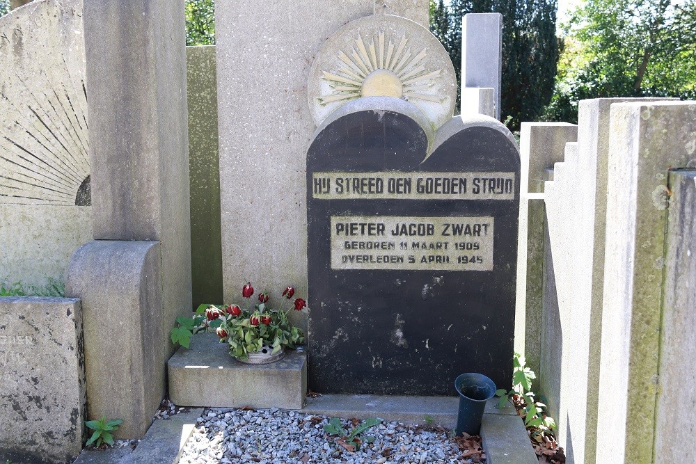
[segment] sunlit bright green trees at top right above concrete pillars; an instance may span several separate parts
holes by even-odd
[[[576,122],[586,98],[696,97],[694,0],[587,0],[564,29],[546,119]]]

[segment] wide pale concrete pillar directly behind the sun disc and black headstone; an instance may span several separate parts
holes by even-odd
[[[404,11],[427,14],[427,2],[417,4]],[[271,296],[286,285],[306,295],[305,159],[316,129],[307,76],[326,38],[374,8],[374,0],[216,3],[226,301],[239,298],[247,280]],[[306,313],[292,313],[306,328]]]

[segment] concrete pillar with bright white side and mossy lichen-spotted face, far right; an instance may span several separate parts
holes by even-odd
[[[662,387],[667,174],[696,166],[696,102],[614,104],[610,131],[596,461],[649,463]]]

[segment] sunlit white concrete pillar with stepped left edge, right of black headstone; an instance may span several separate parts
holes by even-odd
[[[650,102],[649,99],[632,99]],[[566,159],[554,173],[553,192],[545,193],[550,242],[544,253],[554,285],[545,295],[539,367],[541,392],[558,416],[558,438],[575,461],[594,461],[596,447],[597,385],[601,345],[606,203],[609,159],[609,113],[625,98],[580,102],[578,143],[573,162]],[[551,313],[556,312],[557,315]],[[551,354],[558,353],[558,354]],[[558,383],[559,379],[569,379]]]

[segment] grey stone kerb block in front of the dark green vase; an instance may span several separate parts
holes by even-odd
[[[484,414],[481,438],[488,464],[538,464],[522,418]]]

